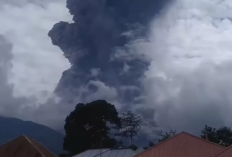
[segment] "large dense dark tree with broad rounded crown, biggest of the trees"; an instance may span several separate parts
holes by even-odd
[[[121,125],[114,105],[105,100],[76,105],[65,120],[64,150],[77,154],[91,148],[114,147],[113,129]]]

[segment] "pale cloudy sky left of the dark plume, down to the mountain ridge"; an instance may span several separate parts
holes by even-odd
[[[7,60],[10,68],[6,69],[1,64],[1,68],[7,70],[1,74],[6,77],[0,87],[3,91],[0,97],[4,99],[0,104],[3,108],[1,114],[46,124],[45,118],[39,116],[44,113],[41,108],[47,105],[48,98],[54,99],[53,91],[62,72],[70,67],[61,50],[51,44],[47,34],[54,23],[72,21],[72,16],[65,7],[65,1],[59,0],[40,3],[1,0],[0,7],[0,34],[3,40],[0,54],[9,53],[7,55],[11,56]],[[10,44],[10,48],[4,49],[4,43]],[[5,88],[9,88],[10,94],[5,93]]]

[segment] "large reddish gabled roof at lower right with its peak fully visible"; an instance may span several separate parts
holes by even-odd
[[[182,132],[135,157],[215,157],[225,149],[220,145]]]

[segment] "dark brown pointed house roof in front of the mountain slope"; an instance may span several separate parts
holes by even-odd
[[[0,146],[0,157],[56,157],[39,142],[22,135]]]

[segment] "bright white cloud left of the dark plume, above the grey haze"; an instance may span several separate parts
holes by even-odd
[[[15,96],[45,100],[70,65],[47,36],[52,26],[71,21],[65,1],[0,1],[0,34],[13,44],[10,83]],[[43,2],[43,3],[42,3]]]

